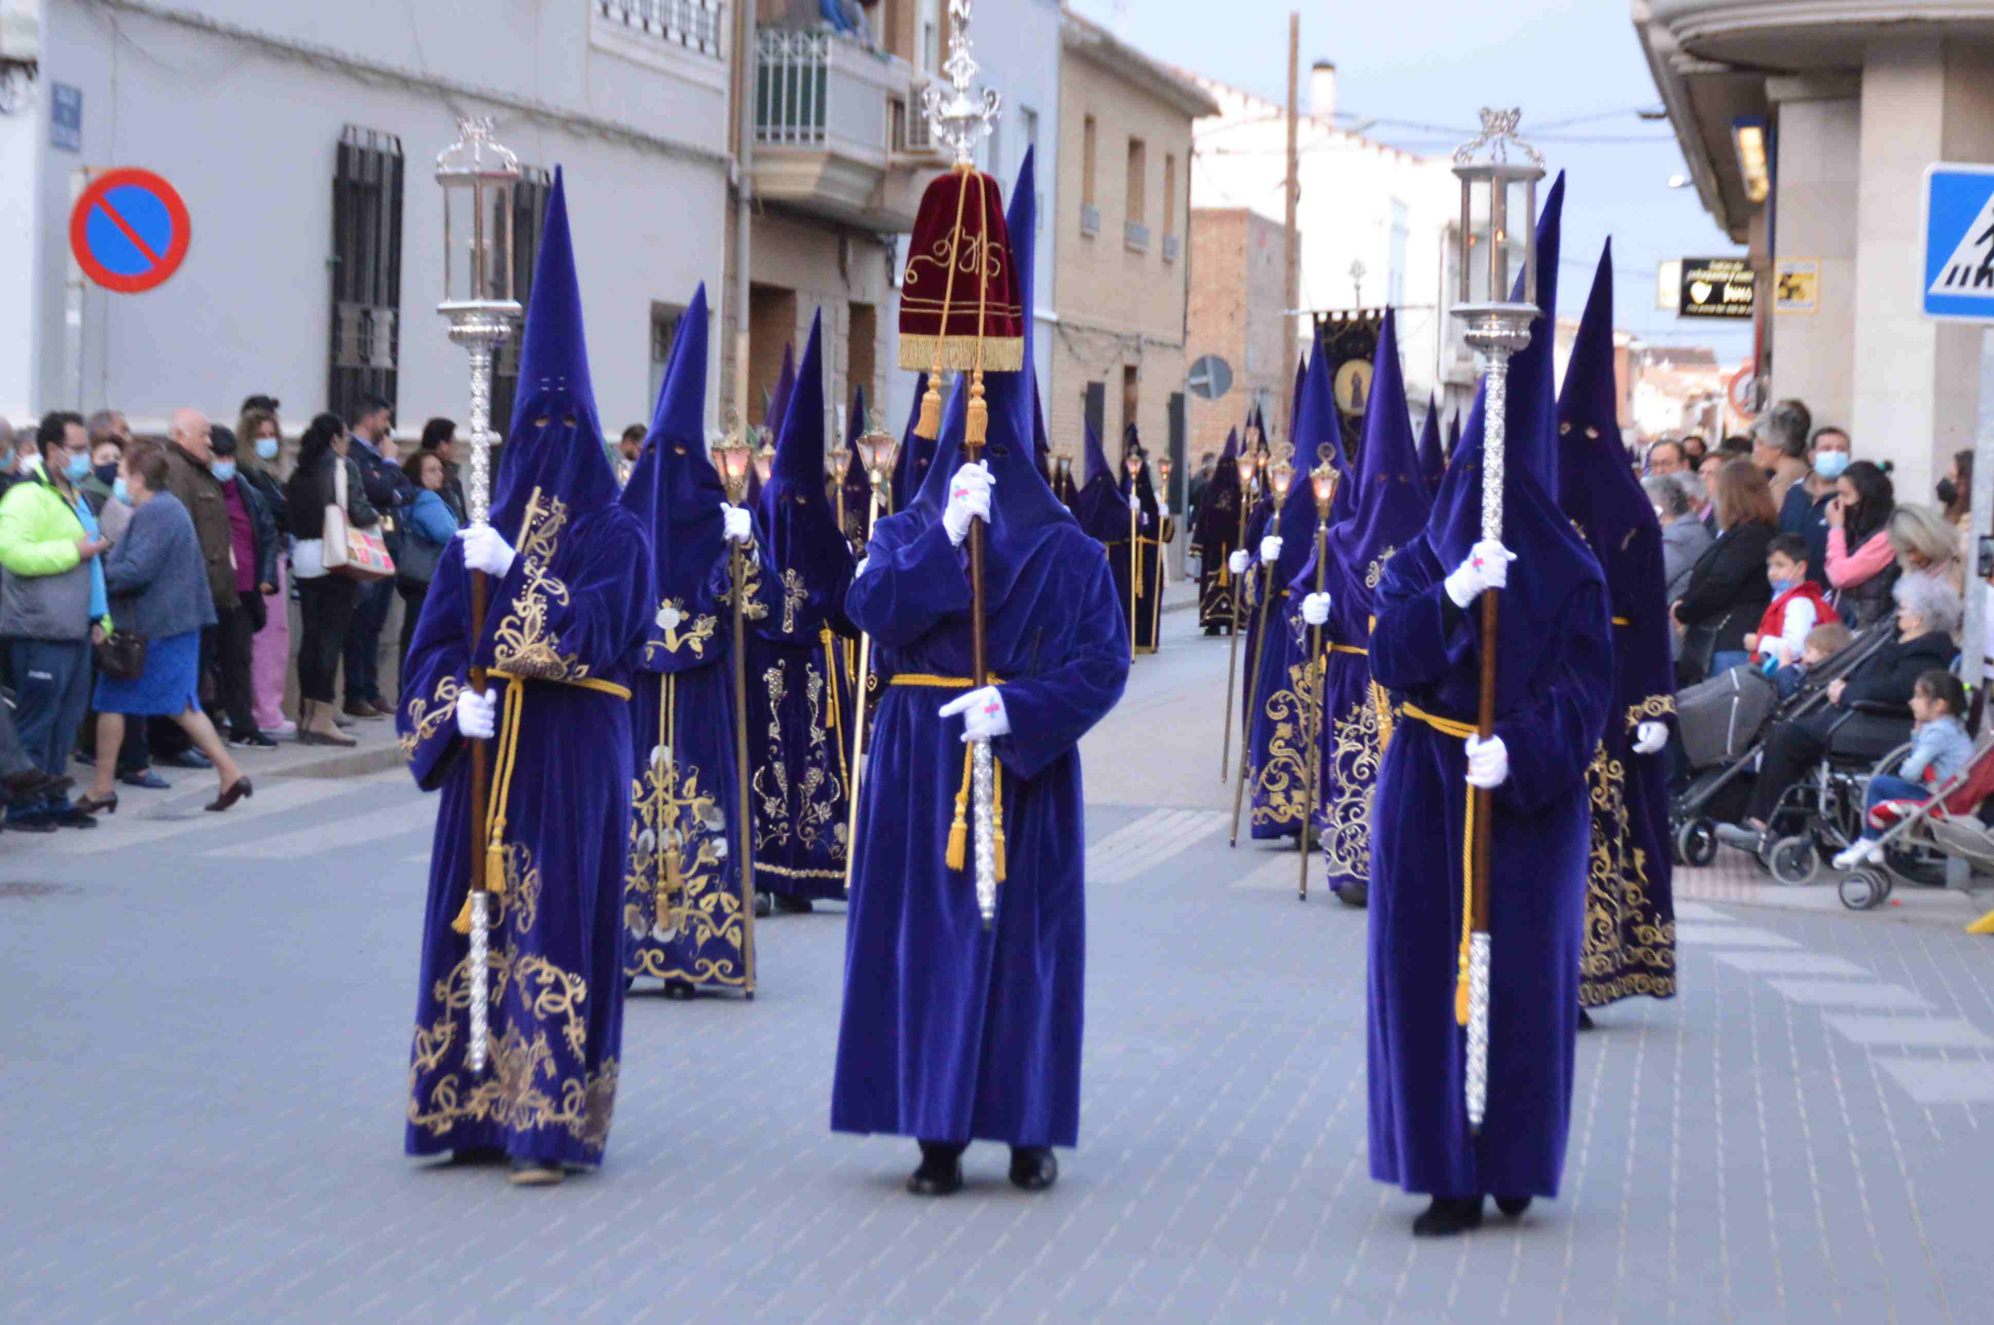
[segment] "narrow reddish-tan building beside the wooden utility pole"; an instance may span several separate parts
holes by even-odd
[[[1282,389],[1282,227],[1248,207],[1190,213],[1190,359],[1218,355],[1232,391],[1218,400],[1190,397],[1190,462],[1216,454],[1226,432],[1246,422],[1258,400],[1270,436],[1284,436]]]

